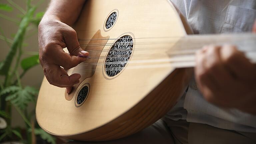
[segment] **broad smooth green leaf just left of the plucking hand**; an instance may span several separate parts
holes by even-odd
[[[39,64],[39,55],[27,57],[21,61],[21,67],[24,71],[26,71],[38,64]]]

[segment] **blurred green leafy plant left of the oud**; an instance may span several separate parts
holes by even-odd
[[[12,12],[13,8],[16,8],[21,12],[21,15],[19,16],[21,20],[19,21],[16,18],[11,18],[0,13],[0,18],[7,19],[19,25],[13,40],[7,38],[0,27],[0,39],[6,41],[10,46],[6,58],[0,62],[0,75],[4,78],[4,81],[0,82],[0,117],[3,117],[7,121],[7,127],[0,130],[0,141],[19,140],[23,143],[33,143],[33,140],[37,135],[48,143],[55,144],[54,137],[43,131],[38,124],[34,124],[36,123],[34,112],[28,113],[27,111],[28,104],[36,102],[38,90],[30,86],[23,86],[20,81],[30,68],[39,64],[38,54],[25,59],[21,59],[21,56],[23,55],[23,47],[26,46],[24,44],[26,32],[29,28],[31,29],[31,26],[33,25],[36,26],[34,29],[37,29],[44,14],[43,12],[35,13],[35,10],[42,1],[39,1],[36,5],[32,5],[31,0],[27,0],[26,10],[12,0],[6,1],[8,4],[0,3],[0,11]],[[16,61],[14,61],[14,59],[16,59]],[[21,73],[18,72],[19,68],[22,68]],[[25,130],[11,127],[12,108],[15,108],[18,111],[26,123]]]

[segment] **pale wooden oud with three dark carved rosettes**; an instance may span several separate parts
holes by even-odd
[[[87,0],[74,29],[90,53],[68,71],[81,74],[80,83],[66,94],[44,78],[36,118],[48,133],[82,141],[122,138],[164,116],[187,88],[187,67],[204,44],[255,44],[252,34],[188,36],[169,0]]]

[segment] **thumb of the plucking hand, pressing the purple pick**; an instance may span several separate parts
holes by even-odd
[[[63,35],[67,49],[71,55],[74,56],[82,56],[82,57],[88,57],[89,53],[87,51],[84,51],[78,42],[77,34],[74,29],[71,28],[71,30],[67,30],[65,34]]]

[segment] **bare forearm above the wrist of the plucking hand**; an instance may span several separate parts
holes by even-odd
[[[51,0],[42,21],[57,19],[71,26],[78,18],[85,0]]]

